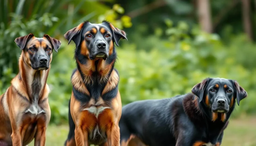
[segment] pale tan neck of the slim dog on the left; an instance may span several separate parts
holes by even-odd
[[[19,59],[19,73],[12,80],[12,85],[22,96],[26,97],[32,103],[38,103],[38,100],[47,94],[48,86],[46,84],[49,70],[33,70],[31,66],[25,63],[23,52]],[[46,91],[47,90],[47,91]]]

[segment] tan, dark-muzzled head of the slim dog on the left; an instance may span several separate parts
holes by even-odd
[[[23,50],[24,62],[34,70],[49,69],[53,49],[58,52],[61,45],[61,41],[49,35],[36,38],[33,34],[16,38],[15,43]]]

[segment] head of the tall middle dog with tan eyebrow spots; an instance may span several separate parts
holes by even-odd
[[[124,31],[115,28],[107,21],[101,24],[92,24],[88,21],[69,30],[64,37],[76,44],[76,51],[81,55],[94,60],[103,58],[106,60],[114,49],[114,42],[118,46],[119,40],[126,39]]]

